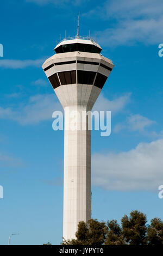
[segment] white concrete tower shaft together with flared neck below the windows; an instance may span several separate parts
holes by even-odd
[[[91,219],[91,115],[101,89],[68,84],[55,89],[65,112],[64,227],[65,240],[76,238],[80,221]]]

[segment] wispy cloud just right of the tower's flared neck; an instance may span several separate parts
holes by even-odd
[[[130,102],[131,93],[124,94],[114,100],[108,100],[103,93],[99,95],[92,111],[111,111],[112,114],[122,111]]]

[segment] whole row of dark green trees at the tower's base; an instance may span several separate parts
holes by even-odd
[[[147,225],[147,216],[135,210],[123,216],[121,225],[116,220],[79,222],[76,237],[62,245],[163,245],[163,222],[153,218]]]

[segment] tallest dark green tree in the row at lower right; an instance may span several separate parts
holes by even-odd
[[[147,216],[140,211],[131,211],[130,217],[121,220],[122,234],[129,245],[147,245]]]

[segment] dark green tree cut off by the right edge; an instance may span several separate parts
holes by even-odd
[[[163,222],[153,218],[147,230],[148,245],[163,245]]]

